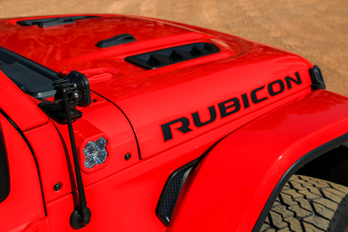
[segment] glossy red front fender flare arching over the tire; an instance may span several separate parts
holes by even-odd
[[[347,132],[348,99],[325,90],[252,121],[192,171],[167,231],[258,232],[287,179],[348,141]]]

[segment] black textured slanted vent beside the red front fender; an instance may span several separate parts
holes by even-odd
[[[163,187],[156,206],[156,215],[165,226],[169,225],[181,189],[197,161],[198,159],[193,160],[187,165],[173,171]]]

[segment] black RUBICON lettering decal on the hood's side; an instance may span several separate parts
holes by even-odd
[[[223,119],[232,114],[235,114],[239,112],[242,107],[244,109],[251,107],[251,103],[258,104],[263,101],[266,101],[270,97],[274,97],[278,94],[283,93],[285,89],[291,89],[293,85],[301,85],[302,81],[298,72],[295,73],[295,77],[296,78],[287,76],[283,79],[278,79],[268,83],[267,85],[263,85],[256,89],[253,89],[250,91],[250,94],[243,93],[240,94],[240,97],[232,97],[226,101],[217,103],[217,110],[219,111],[220,118]],[[217,112],[215,105],[208,106],[207,108],[209,111],[210,119],[205,122],[201,121],[198,111],[191,113],[191,119],[193,125],[196,128],[206,126],[210,123],[213,123],[216,120]],[[173,139],[173,130],[180,131],[182,134],[186,134],[193,130],[192,128],[190,128],[190,119],[187,117],[181,117],[166,122],[160,125],[160,128],[162,131],[164,142]]]

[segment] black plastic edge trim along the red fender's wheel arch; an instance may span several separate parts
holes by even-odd
[[[259,232],[264,220],[266,219],[273,203],[275,202],[276,198],[278,197],[280,191],[282,190],[282,188],[284,187],[284,185],[286,184],[286,182],[290,179],[290,177],[298,170],[300,169],[303,165],[305,165],[306,163],[308,163],[309,161],[319,157],[320,155],[324,154],[325,152],[328,152],[332,149],[334,149],[335,147],[346,143],[348,141],[348,133],[341,135],[337,138],[332,139],[331,141],[318,146],[317,148],[311,150],[310,152],[308,152],[307,154],[303,155],[300,159],[298,159],[286,172],[285,174],[282,176],[282,178],[280,178],[280,180],[278,181],[277,185],[275,186],[274,190],[272,191],[271,195],[269,196],[266,205],[264,205],[261,214],[258,218],[258,220],[256,221],[254,228],[252,230],[252,232]]]

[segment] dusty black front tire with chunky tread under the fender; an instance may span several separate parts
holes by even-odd
[[[348,187],[293,175],[260,232],[348,232]]]

